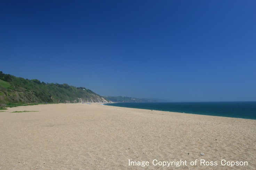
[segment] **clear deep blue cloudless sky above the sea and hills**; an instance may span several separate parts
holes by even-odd
[[[1,0],[0,71],[102,96],[255,101],[256,1]]]

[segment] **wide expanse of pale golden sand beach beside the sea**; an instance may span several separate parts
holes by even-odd
[[[32,110],[38,112],[11,113]],[[204,155],[200,155],[204,153]],[[129,161],[149,161],[146,167]],[[154,166],[152,161],[187,161]],[[204,159],[217,166],[191,166]],[[49,104],[0,112],[0,169],[256,169],[256,120],[120,108]]]

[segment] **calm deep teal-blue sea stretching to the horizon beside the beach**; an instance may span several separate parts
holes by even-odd
[[[256,119],[256,101],[113,103],[109,106]]]

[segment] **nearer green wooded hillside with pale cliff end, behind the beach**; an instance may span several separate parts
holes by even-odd
[[[0,106],[53,102],[107,102],[84,87],[18,78],[0,71]]]

